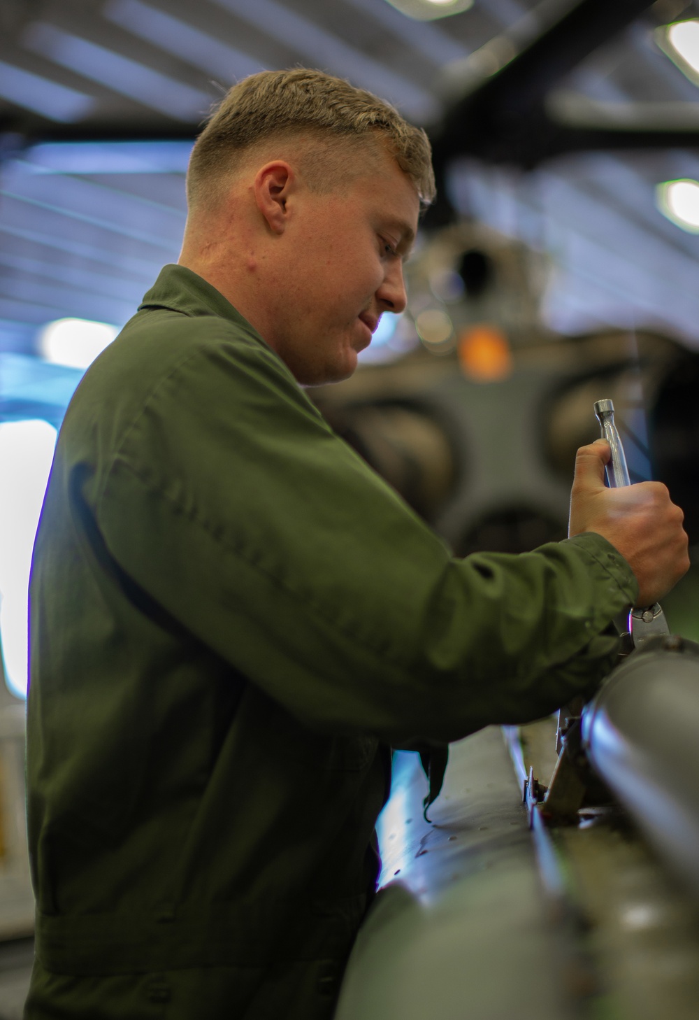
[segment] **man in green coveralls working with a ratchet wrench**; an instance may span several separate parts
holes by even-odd
[[[450,557],[299,384],[350,375],[433,195],[425,136],[316,71],[235,86],[190,218],[68,408],[32,581],[29,1018],[321,1020],[389,747],[541,716],[687,567],[663,487],[579,454],[571,533]]]

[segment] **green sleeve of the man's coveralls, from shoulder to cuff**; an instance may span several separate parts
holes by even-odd
[[[262,345],[161,379],[88,494],[120,567],[292,714],[394,746],[544,715],[636,598],[595,534],[454,559]]]

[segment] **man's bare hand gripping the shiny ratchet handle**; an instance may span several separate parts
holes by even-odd
[[[637,605],[650,606],[689,569],[684,513],[659,481],[607,489],[604,465],[609,445],[581,447],[571,493],[569,534],[596,531],[614,546],[636,574]]]

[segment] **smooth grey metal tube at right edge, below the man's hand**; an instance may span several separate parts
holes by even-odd
[[[592,766],[699,896],[699,645],[650,639],[585,710]]]

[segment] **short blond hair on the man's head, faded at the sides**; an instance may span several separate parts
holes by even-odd
[[[278,136],[313,141],[310,175],[318,190],[332,187],[339,166],[347,170],[346,143],[387,146],[423,205],[434,201],[432,150],[424,131],[408,123],[389,103],[320,70],[261,71],[234,85],[197,139],[186,176],[190,205],[211,196],[238,157]],[[332,158],[337,143],[340,162]]]

